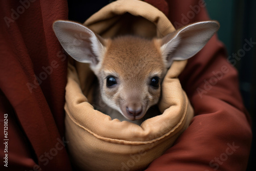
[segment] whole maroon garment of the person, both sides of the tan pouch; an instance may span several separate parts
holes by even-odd
[[[146,2],[162,10],[175,27],[209,19],[202,0]],[[67,2],[0,3],[0,127],[3,131],[8,114],[8,170],[71,170],[64,148],[68,142],[61,142],[67,60],[52,31],[54,20],[68,18]],[[196,116],[147,170],[245,170],[250,119],[237,71],[217,36],[189,59],[180,80]],[[3,159],[5,146],[0,147]]]

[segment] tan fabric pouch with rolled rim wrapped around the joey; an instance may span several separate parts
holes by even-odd
[[[129,28],[124,27],[125,22],[128,22]],[[141,23],[144,27],[141,27]],[[175,30],[161,11],[137,0],[111,3],[90,17],[84,25],[104,37],[118,36],[120,30],[121,34],[127,32],[161,37]],[[152,29],[148,30],[149,27]],[[155,117],[145,120],[140,126],[111,120],[108,115],[94,110],[87,98],[92,96],[94,87],[91,83],[92,72],[88,71],[87,64],[77,62],[77,74],[70,65],[65,121],[66,138],[70,141],[68,148],[75,165],[81,170],[122,170],[123,167],[141,170],[163,154],[188,127],[194,115],[178,79],[185,65],[186,61],[173,63],[162,83],[159,102],[162,114],[156,113]],[[135,161],[136,158],[139,161]]]

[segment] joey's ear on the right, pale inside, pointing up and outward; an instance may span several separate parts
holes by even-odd
[[[174,60],[186,60],[198,53],[220,25],[217,21],[198,22],[184,26],[161,39],[161,52],[167,67]]]

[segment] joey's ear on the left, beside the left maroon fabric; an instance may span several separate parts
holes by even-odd
[[[58,20],[53,30],[65,51],[75,60],[96,66],[105,51],[105,40],[87,27]]]

